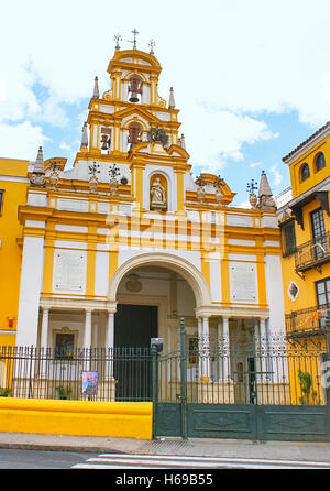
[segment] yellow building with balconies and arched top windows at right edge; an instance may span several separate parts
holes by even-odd
[[[330,308],[330,123],[283,161],[292,181],[279,221],[286,331],[322,345]]]

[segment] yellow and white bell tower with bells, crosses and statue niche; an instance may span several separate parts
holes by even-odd
[[[95,77],[80,152],[74,166],[79,167],[78,174],[82,176],[82,167],[86,170],[96,162],[101,181],[107,175],[102,170],[114,164],[124,176],[125,186],[131,186],[132,200],[147,210],[152,209],[151,187],[157,174],[156,182],[166,188],[166,206],[158,204],[154,209],[177,211],[178,204],[184,203],[183,173],[190,171],[185,140],[178,134],[179,111],[173,87],[168,103],[158,94],[162,67],[154,55],[155,43],[148,43],[150,53],[138,50],[139,33],[136,30],[132,33],[134,41],[130,50],[121,50],[121,36],[114,37],[116,51],[107,70],[110,87],[103,94]]]

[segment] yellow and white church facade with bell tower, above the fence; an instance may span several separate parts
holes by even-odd
[[[153,51],[117,46],[95,79],[81,146],[0,159],[0,345],[176,349],[285,331],[280,231],[266,175],[251,208],[217,175],[194,178],[173,88]]]

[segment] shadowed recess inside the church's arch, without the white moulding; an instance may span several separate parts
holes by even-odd
[[[119,282],[114,316],[114,346],[150,348],[151,338],[174,349],[180,317],[197,326],[195,294],[182,274],[165,266],[142,265]]]

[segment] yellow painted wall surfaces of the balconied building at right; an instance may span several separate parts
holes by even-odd
[[[316,171],[316,157],[319,152],[323,152],[326,157],[326,166],[320,171]],[[307,163],[309,165],[310,177],[301,181],[301,166]],[[316,185],[322,183],[330,175],[330,137],[324,138],[321,142],[315,144],[305,154],[289,164],[293,198],[297,199],[304,193],[312,190]],[[329,199],[329,197],[328,197]],[[318,199],[312,199],[302,207],[304,228],[295,221],[296,247],[305,244],[312,240],[312,225],[310,214],[321,207]],[[330,230],[330,217],[323,210],[326,231]],[[283,271],[283,290],[285,302],[285,314],[302,310],[306,308],[317,307],[316,283],[320,280],[330,277],[330,262],[321,265],[321,269],[311,268],[307,271],[296,273],[295,253],[282,259]],[[292,299],[288,295],[290,282],[295,282],[299,288],[296,299]],[[298,329],[301,334],[305,328],[318,325],[317,313],[305,313],[299,317]],[[305,327],[306,326],[306,327]],[[326,348],[326,339],[323,336],[315,336],[310,339],[301,337],[299,342],[295,342],[296,354],[289,358],[288,370],[290,378],[290,396],[293,404],[324,404],[323,391],[320,386],[321,358],[316,351],[316,347]],[[288,342],[288,350],[292,345]],[[301,356],[299,354],[301,350]],[[309,397],[301,392],[301,381],[298,377],[298,369],[306,375],[311,378],[312,386]]]

